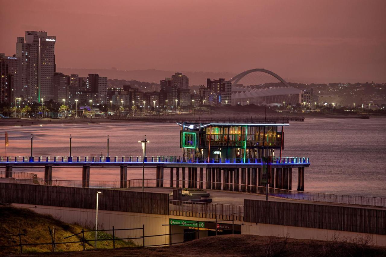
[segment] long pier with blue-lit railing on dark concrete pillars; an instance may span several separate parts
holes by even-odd
[[[40,168],[44,170],[44,180],[47,184],[52,183],[52,168],[71,167],[79,168],[82,173],[83,187],[89,187],[90,169],[92,168],[117,168],[121,181],[121,188],[127,187],[127,180],[130,179],[131,168],[142,167],[142,157],[1,157],[0,168],[5,168],[6,178],[12,178],[12,171],[15,168]],[[209,162],[203,159],[186,159],[179,156],[146,157],[144,167],[153,169],[158,187],[164,186],[164,174],[169,172],[169,179],[181,180],[188,188],[221,189],[221,184],[226,186],[223,190],[239,188],[248,192],[256,193],[256,187],[266,186],[265,176],[263,176],[264,162],[262,159],[246,159],[239,162],[237,158],[210,159]],[[292,170],[297,168],[298,172],[298,191],[304,191],[304,171],[310,166],[309,159],[306,157],[282,157],[275,158],[271,163],[271,178],[273,183],[271,188],[291,190]],[[128,173],[129,171],[129,173]],[[184,181],[184,182],[182,182]],[[229,186],[228,186],[229,185]],[[248,189],[245,185],[252,186]],[[179,187],[177,184],[176,187]]]

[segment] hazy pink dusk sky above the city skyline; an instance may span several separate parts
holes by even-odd
[[[386,82],[384,0],[0,0],[0,7],[0,52],[14,54],[25,30],[44,30],[56,36],[61,68],[266,68],[283,78]]]

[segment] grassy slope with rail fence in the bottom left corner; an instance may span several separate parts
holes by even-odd
[[[51,215],[42,215],[26,208],[15,208],[10,206],[0,206],[0,246],[19,245],[19,237],[3,237],[4,235],[22,234],[22,243],[51,243],[49,228],[55,228],[56,242],[78,242],[82,241],[82,234],[64,239],[70,235],[81,232],[82,228],[78,224],[64,223]],[[84,228],[91,230],[90,228]],[[97,233],[98,239],[112,239],[112,235],[105,232]],[[85,232],[85,249],[94,249],[95,232]],[[115,247],[134,247],[131,240],[120,240],[115,237]],[[113,248],[113,241],[97,241],[97,248]],[[56,244],[56,252],[79,251],[83,250],[83,242]],[[52,244],[49,245],[29,245],[23,246],[23,253],[51,252]],[[20,247],[0,247],[0,255],[19,253]]]

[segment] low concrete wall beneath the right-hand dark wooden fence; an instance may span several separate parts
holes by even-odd
[[[342,239],[368,237],[370,235],[372,236],[374,245],[386,246],[386,235],[356,233],[320,228],[291,227],[283,225],[244,222],[244,225],[241,226],[241,233],[243,235],[261,235],[274,237],[285,237],[288,235],[290,238],[315,240],[331,240],[332,237],[339,237]]]

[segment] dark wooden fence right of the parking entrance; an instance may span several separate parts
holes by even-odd
[[[386,235],[386,210],[244,199],[244,221]]]

